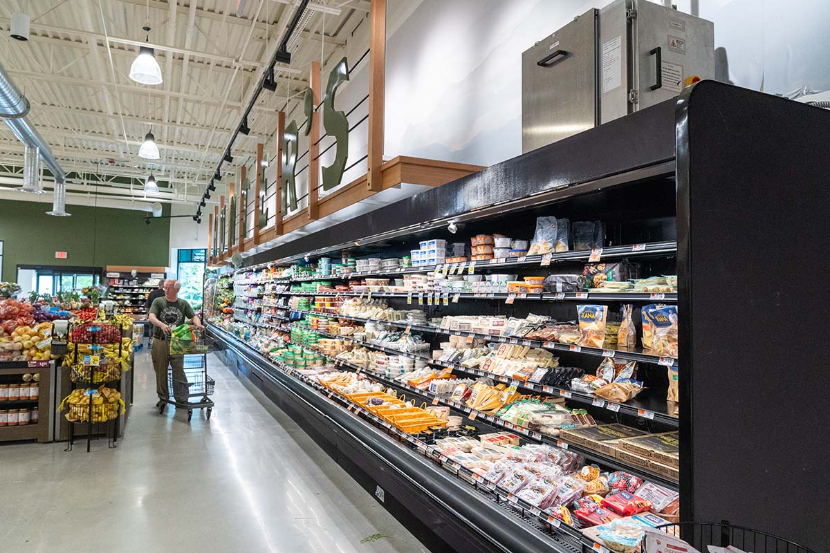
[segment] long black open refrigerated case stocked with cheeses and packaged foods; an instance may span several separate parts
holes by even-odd
[[[808,370],[821,359],[809,329],[823,322],[821,309],[810,308],[813,298],[821,297],[822,284],[819,279],[795,284],[792,277],[811,274],[816,266],[813,240],[804,239],[830,230],[826,217],[813,216],[830,206],[823,186],[830,169],[828,122],[830,114],[822,109],[704,81],[684,90],[676,102],[643,109],[248,258],[245,282],[263,286],[251,293],[255,314],[238,313],[237,324],[247,325],[250,334],[241,340],[215,326],[211,331],[224,344],[229,365],[437,550],[602,552],[609,545],[591,522],[566,516],[558,505],[540,507],[477,472],[476,461],[441,441],[446,430],[402,430],[372,404],[325,386],[306,361],[342,371],[353,381],[369,378],[388,393],[406,395],[413,408],[447,408],[462,417],[460,434],[451,436],[510,434],[523,449],[536,444],[558,456],[579,454],[581,464],[614,475],[615,482],[619,472],[626,473],[623,486],[642,480],[676,492],[679,513],[673,520],[660,517],[657,524],[679,519],[746,526],[822,551],[828,538],[820,528],[799,522],[811,516],[799,498],[830,484],[820,469],[827,439],[815,431],[830,420],[813,408],[805,411],[810,424],[793,424],[775,414],[782,407],[823,400],[820,371]],[[808,152],[820,155],[802,163]],[[564,251],[551,246],[535,253],[538,221],[551,216],[572,223],[601,221],[603,239],[589,250],[574,250],[571,236]],[[496,234],[526,240],[531,249],[477,260],[471,268],[476,237]],[[466,259],[447,262],[447,255],[437,264],[408,266],[405,260],[411,262],[421,243],[428,247],[430,240],[464,242],[465,251],[454,254]],[[266,279],[251,278],[251,271],[291,266],[306,256],[330,261],[292,269],[279,284],[270,279],[267,290]],[[398,263],[383,268],[383,261],[393,259]],[[365,260],[362,269],[358,260]],[[616,273],[606,272],[623,261],[629,268],[636,264],[638,274],[617,280]],[[339,267],[333,269],[334,264]],[[496,279],[496,288],[482,289],[476,279],[466,279],[495,274],[510,275],[512,284]],[[555,283],[522,291],[521,285],[538,286],[523,277],[535,283],[550,274],[592,278],[575,291],[556,289]],[[596,274],[605,278],[594,279]],[[623,286],[623,280],[666,275],[676,275],[676,292],[637,291],[642,284],[637,280],[631,288]],[[620,287],[608,289],[608,281]],[[266,295],[267,301],[261,299]],[[663,313],[666,321],[674,320],[668,331],[660,331],[659,340],[666,339],[662,347],[652,340],[647,348],[642,312],[651,313],[646,306],[652,303],[674,308],[673,315]],[[344,308],[349,305],[369,309]],[[615,322],[627,313],[618,317],[620,308],[632,305],[635,344],[597,342],[597,327],[579,327],[583,307],[590,305],[598,309],[589,313],[613,313],[608,321]],[[257,326],[270,307],[290,313],[277,318],[281,328]],[[423,317],[395,315],[413,311]],[[478,322],[454,326],[452,321],[463,316]],[[502,332],[500,324],[489,323],[494,318],[574,324],[544,337]],[[364,330],[341,332],[349,325]],[[367,332],[369,327],[375,332]],[[291,332],[292,347],[271,347],[269,336],[285,330]],[[675,332],[674,338],[665,332]],[[323,340],[343,349],[326,350]],[[496,357],[510,347],[543,352],[558,358],[559,367],[593,376],[600,376],[605,360],[612,366],[633,361],[644,386],[633,399],[603,396],[573,379],[547,380],[555,371],[519,377],[493,364],[446,355],[447,344],[464,349],[467,341],[490,344]],[[358,350],[370,361],[343,354]],[[400,381],[388,371],[388,361],[385,368],[377,362],[378,356],[397,357],[402,364],[406,358],[443,371],[443,378],[489,379],[493,387],[501,385],[507,406],[515,401],[510,398],[527,395],[564,406],[571,416],[579,410],[580,417],[589,418],[580,418],[577,426],[591,431],[560,428],[557,435],[527,424],[530,417],[516,418],[508,410],[485,409],[417,381]],[[596,424],[590,424],[592,418]],[[613,424],[621,426],[605,428]],[[619,434],[611,436],[617,444],[600,435],[613,432]],[[657,438],[638,442],[642,434]],[[676,452],[661,449],[671,439]],[[793,473],[793,463],[806,468],[809,478]],[[776,490],[788,492],[774,492],[770,500]],[[571,507],[570,515],[576,510],[571,502],[565,507]],[[788,516],[781,517],[782,512]],[[684,534],[686,526],[678,526],[681,536],[695,541]],[[763,546],[754,551],[764,551]]]

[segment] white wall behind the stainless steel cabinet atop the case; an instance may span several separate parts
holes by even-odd
[[[492,165],[521,153],[521,54],[610,0],[424,0],[388,36],[384,157]],[[657,2],[662,3],[662,2]],[[691,0],[679,0],[681,11]],[[830,2],[699,0],[721,80],[830,89]]]

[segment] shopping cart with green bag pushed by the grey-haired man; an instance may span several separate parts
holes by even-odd
[[[207,420],[213,410],[210,396],[216,381],[207,376],[207,354],[216,350],[215,342],[191,328],[190,336],[182,338],[168,335],[167,390],[168,399],[159,401],[159,415],[164,413],[167,405],[188,410],[188,422],[193,418],[193,410],[205,410]],[[192,398],[197,398],[194,401]]]

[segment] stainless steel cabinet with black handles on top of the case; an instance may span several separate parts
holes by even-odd
[[[522,54],[522,152],[714,78],[712,22],[649,0],[590,9]]]

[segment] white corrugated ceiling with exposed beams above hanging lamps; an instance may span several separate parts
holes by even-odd
[[[30,121],[69,173],[70,202],[74,194],[110,187],[112,196],[144,201],[137,183],[152,171],[164,201],[195,203],[299,4],[247,0],[237,13],[237,0],[2,0],[0,64],[29,99]],[[9,36],[16,12],[31,17],[28,41]],[[256,156],[256,144],[276,132],[286,98],[300,101],[310,61],[324,49],[326,59],[343,51],[368,12],[369,0],[309,3],[308,22],[292,41],[291,65],[276,66],[276,91],[262,91],[248,118],[251,134],[237,136],[235,161],[222,172]],[[143,45],[154,48],[161,85],[129,79]],[[161,156],[152,162],[138,157],[150,131]],[[19,175],[22,152],[0,124],[0,188]]]

